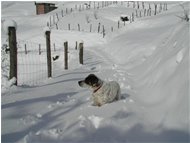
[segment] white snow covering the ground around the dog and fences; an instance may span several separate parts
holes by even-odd
[[[19,68],[37,75],[20,70],[22,85],[11,86],[14,79],[7,80],[8,55],[2,51],[3,143],[190,141],[190,32],[189,22],[178,17],[184,14],[179,4],[189,10],[190,3],[168,2],[167,11],[135,18],[118,29],[120,16],[136,11],[130,3],[129,7],[127,2],[118,2],[96,11],[73,11],[60,18],[59,29],[54,25],[51,30],[51,43],[59,49],[54,51],[52,46],[52,54],[60,58],[52,61],[53,77],[47,79],[45,52],[39,56],[37,47],[42,44],[45,49],[43,29],[49,17],[62,8],[84,2],[57,2],[58,9],[44,15],[35,15],[34,2],[1,2],[1,46],[7,43],[4,22],[16,21]],[[145,6],[149,3],[153,9],[154,2]],[[99,22],[105,25],[104,38],[94,27],[89,32],[90,24]],[[76,23],[76,28],[68,30],[68,23]],[[109,30],[112,26],[113,32]],[[65,41],[69,43],[68,70],[64,70],[63,62]],[[78,63],[76,41],[84,42],[84,65]],[[25,42],[30,45],[27,55]],[[24,65],[30,62],[32,67]],[[102,107],[92,106],[91,92],[78,86],[78,81],[90,73],[119,82],[123,98]],[[40,82],[28,84],[31,78]]]

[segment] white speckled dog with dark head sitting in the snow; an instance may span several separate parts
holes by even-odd
[[[105,82],[90,74],[84,80],[78,81],[78,84],[80,87],[92,89],[94,106],[102,106],[120,99],[120,86],[116,81]]]

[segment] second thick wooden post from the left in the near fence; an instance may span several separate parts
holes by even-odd
[[[46,31],[45,34],[46,34],[46,48],[47,48],[47,69],[48,69],[48,78],[49,78],[52,77],[50,31]]]

